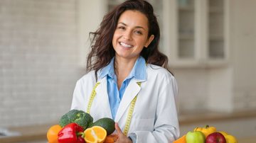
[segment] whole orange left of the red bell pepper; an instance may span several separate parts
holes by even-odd
[[[53,125],[48,129],[47,139],[49,143],[58,143],[58,132],[60,132],[61,129],[62,127],[60,127],[60,125]]]

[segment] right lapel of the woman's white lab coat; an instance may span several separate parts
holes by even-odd
[[[124,115],[125,110],[129,108],[130,103],[139,93],[141,87],[137,84],[137,82],[138,81],[132,79],[124,91],[124,96],[122,97],[122,101],[120,102],[119,108],[117,109],[117,115],[115,118],[116,122],[118,122],[122,115]]]

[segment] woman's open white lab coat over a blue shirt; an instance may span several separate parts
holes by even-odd
[[[179,136],[176,80],[162,67],[152,64],[147,64],[146,67],[146,80],[141,81],[141,86],[137,84],[139,82],[137,79],[129,82],[114,120],[118,122],[121,130],[124,130],[129,105],[138,94],[128,136],[136,135],[137,143],[172,142]],[[97,81],[100,85],[95,89],[96,96],[90,108],[90,115],[94,121],[100,118],[112,118],[107,94],[107,77]],[[87,110],[87,103],[95,83],[95,71],[90,71],[78,80],[71,109]]]

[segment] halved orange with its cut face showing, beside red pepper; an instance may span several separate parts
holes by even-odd
[[[107,131],[100,126],[87,128],[84,133],[87,143],[103,143],[107,137]]]

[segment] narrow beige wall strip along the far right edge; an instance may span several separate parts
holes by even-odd
[[[256,108],[256,1],[232,1],[231,64],[235,108]]]

